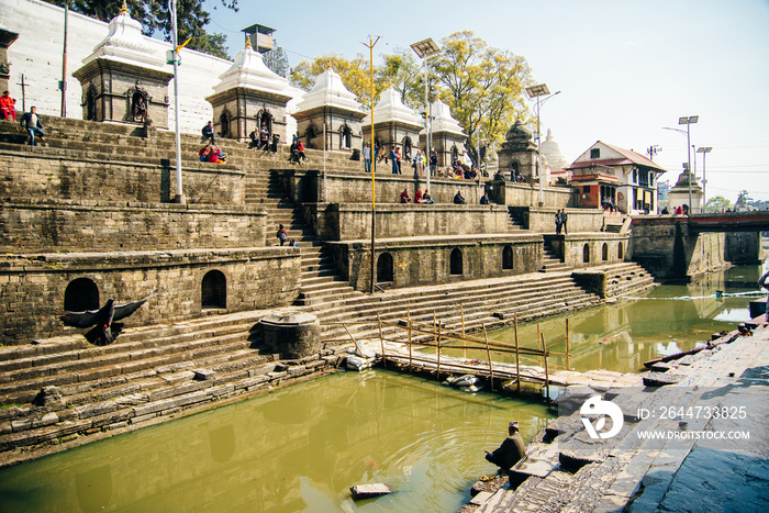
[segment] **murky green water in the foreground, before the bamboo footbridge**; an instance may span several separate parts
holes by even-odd
[[[456,511],[495,470],[483,449],[508,423],[531,438],[547,415],[421,378],[343,372],[0,470],[0,510]],[[367,482],[398,492],[353,503],[349,487]]]

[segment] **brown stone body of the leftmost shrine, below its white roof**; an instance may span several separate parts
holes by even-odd
[[[145,119],[134,114],[143,100],[146,119],[156,127],[168,127],[167,91],[172,73],[97,58],[73,75],[85,91],[83,119],[142,125]]]

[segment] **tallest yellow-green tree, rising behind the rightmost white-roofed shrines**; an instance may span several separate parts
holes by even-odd
[[[468,135],[465,144],[478,161],[478,133],[492,145],[501,143],[508,127],[526,112],[523,91],[531,82],[526,59],[489,46],[471,31],[456,32],[442,41],[433,69],[441,97]]]

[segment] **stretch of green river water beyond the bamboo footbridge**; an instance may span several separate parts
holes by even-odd
[[[756,291],[760,276],[760,266],[734,267],[694,283],[657,287],[643,295],[646,299],[620,299],[613,304],[548,319],[539,323],[539,328],[545,344],[553,345],[550,350],[562,353],[568,317],[570,364],[576,370],[634,372],[643,368],[644,361],[692,349],[710,341],[711,334],[732,331],[736,323],[749,320],[747,305],[751,297],[716,298],[715,291],[726,294]],[[689,299],[677,300],[682,297]],[[515,344],[512,328],[489,336]],[[519,341],[522,346],[536,347],[536,323],[519,326]],[[461,352],[446,354],[459,356]],[[468,357],[486,359],[486,352]],[[494,358],[514,361],[501,355]],[[560,357],[548,358],[548,363],[566,366],[566,359]],[[522,364],[542,365],[536,360],[522,360]]]

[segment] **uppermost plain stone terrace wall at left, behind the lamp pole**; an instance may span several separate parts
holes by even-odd
[[[4,153],[0,158],[0,197],[167,202],[176,193],[169,160],[121,164],[56,155]],[[185,194],[191,203],[243,204],[245,174],[210,164],[185,165]]]

